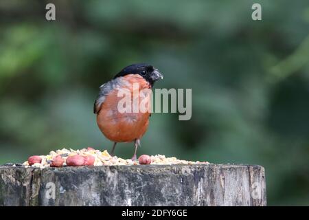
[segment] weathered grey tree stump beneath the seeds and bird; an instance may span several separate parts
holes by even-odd
[[[266,206],[264,168],[0,166],[0,206]]]

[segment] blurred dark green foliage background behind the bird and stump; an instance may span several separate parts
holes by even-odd
[[[51,2],[56,21],[45,19]],[[98,87],[150,63],[164,74],[156,88],[192,88],[192,120],[153,113],[139,154],[260,164],[268,205],[309,205],[308,34],[308,0],[1,0],[0,164],[110,150]],[[115,153],[128,158],[133,144]]]

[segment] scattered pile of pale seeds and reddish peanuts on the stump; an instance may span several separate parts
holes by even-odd
[[[62,166],[115,166],[115,165],[139,165],[139,164],[208,164],[208,162],[191,162],[177,159],[176,157],[165,157],[164,155],[141,155],[137,160],[122,159],[111,156],[106,150],[99,151],[91,147],[81,150],[62,148],[62,150],[51,151],[48,155],[34,155],[28,158],[23,166],[29,167],[62,167]]]

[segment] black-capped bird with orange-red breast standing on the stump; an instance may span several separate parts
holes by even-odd
[[[151,91],[159,79],[163,79],[163,75],[158,69],[146,63],[136,63],[124,67],[113,79],[100,86],[93,113],[96,114],[100,131],[113,142],[112,156],[117,143],[134,142],[135,151],[131,159],[133,161],[137,159],[137,148],[141,146],[140,140],[148,129],[151,116],[150,111],[119,111],[119,102],[123,98],[119,96],[119,92],[126,91],[130,95],[128,97],[131,102],[128,102],[128,106],[126,104],[123,106],[134,109],[136,86],[139,91]],[[144,101],[147,107],[150,107],[151,98],[147,92],[137,97],[139,103]]]

